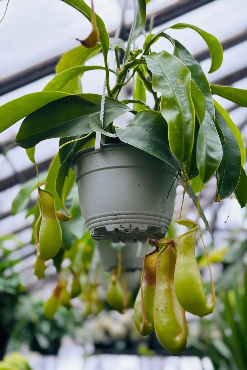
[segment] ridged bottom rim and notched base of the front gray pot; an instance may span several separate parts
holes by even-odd
[[[148,238],[164,238],[171,217],[156,212],[120,211],[99,213],[85,222],[94,240],[145,242]]]

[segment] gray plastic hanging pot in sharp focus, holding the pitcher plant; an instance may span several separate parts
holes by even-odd
[[[71,162],[93,239],[145,242],[166,235],[177,185],[170,165],[124,143],[104,144],[100,151],[84,149]]]

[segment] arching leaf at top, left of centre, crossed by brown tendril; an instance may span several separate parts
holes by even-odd
[[[74,9],[78,10],[81,14],[83,14],[84,17],[86,17],[87,20],[91,21],[91,8],[82,0],[61,0],[66,4],[69,4],[72,6]],[[104,63],[105,67],[107,66],[107,54],[109,51],[110,47],[110,41],[109,41],[109,36],[106,30],[106,26],[103,22],[103,20],[97,15],[96,16],[96,22],[97,26],[99,28],[100,32],[100,44],[104,56]],[[106,75],[109,75],[109,70],[108,68],[106,69]]]

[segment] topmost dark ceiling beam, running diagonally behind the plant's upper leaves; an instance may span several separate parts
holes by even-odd
[[[157,14],[151,14],[150,16],[148,16],[146,29],[149,28],[150,19],[152,16],[155,16],[154,26],[158,26],[164,22],[172,20],[178,16],[181,16],[182,14],[186,14],[191,10],[197,9],[213,1],[216,0],[180,0],[178,3],[164,8]],[[128,25],[121,32],[121,37],[124,40],[127,40],[128,38],[130,27],[131,25]],[[114,33],[111,33],[109,36],[113,37]],[[58,63],[60,58],[61,55],[58,55],[57,57],[51,58],[40,64],[34,65],[33,67],[28,68],[27,70],[21,71],[20,73],[14,74],[10,77],[5,78],[4,80],[1,80],[0,95],[6,94],[7,92],[20,88],[36,80],[39,80],[39,78],[54,73],[56,64]]]

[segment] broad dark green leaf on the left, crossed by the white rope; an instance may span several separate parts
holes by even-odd
[[[89,116],[100,115],[101,96],[69,95],[33,112],[22,122],[16,141],[23,148],[54,137],[70,137],[91,131]],[[106,97],[104,127],[121,114],[130,111],[127,105]]]

